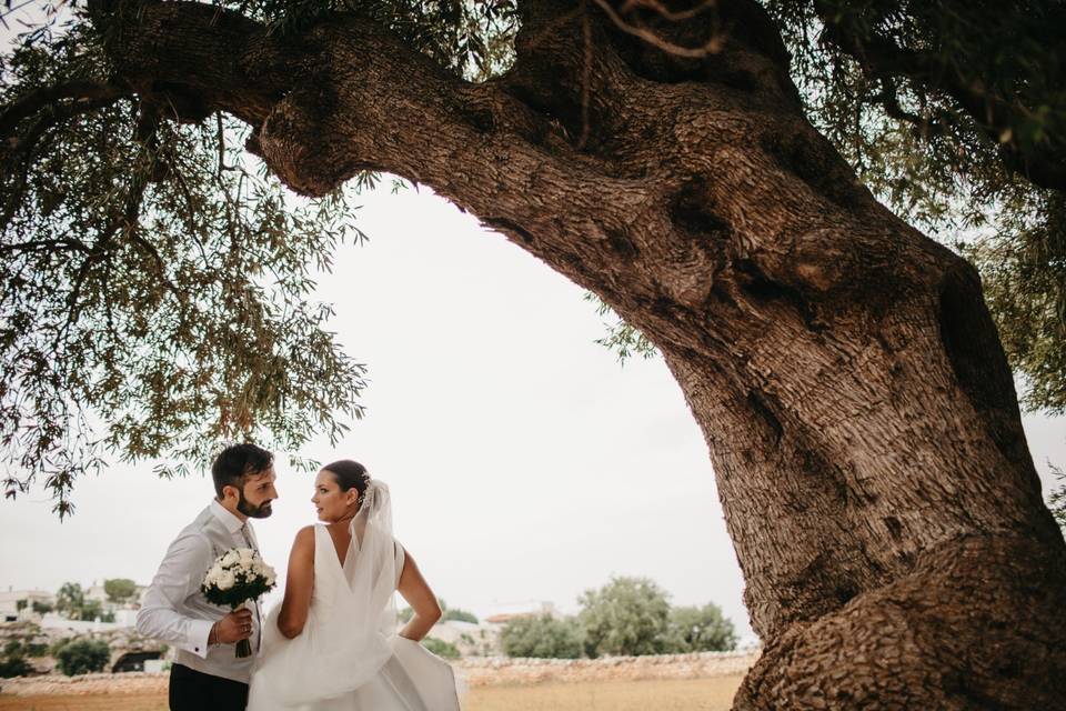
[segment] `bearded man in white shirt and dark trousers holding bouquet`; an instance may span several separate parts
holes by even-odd
[[[167,549],[144,603],[137,631],[178,648],[170,670],[171,711],[242,711],[254,654],[235,657],[248,639],[258,651],[260,609],[225,613],[200,592],[214,559],[231,548],[254,548],[249,519],[270,515],[273,454],[254,444],[228,447],[211,467],[217,498]]]

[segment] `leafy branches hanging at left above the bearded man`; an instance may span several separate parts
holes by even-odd
[[[98,48],[88,22],[23,42],[0,103],[107,87]],[[62,517],[104,458],[165,458],[170,475],[222,440],[294,453],[340,437],[365,371],[311,297],[338,244],[363,237],[349,197],[296,201],[220,114],[179,123],[120,90],[48,99],[9,121],[0,156],[7,495],[40,480]]]

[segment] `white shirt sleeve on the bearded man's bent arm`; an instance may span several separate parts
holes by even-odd
[[[213,562],[211,544],[201,533],[179,535],[163,557],[137,613],[137,631],[205,658],[213,620],[182,613],[184,601],[200,590]]]

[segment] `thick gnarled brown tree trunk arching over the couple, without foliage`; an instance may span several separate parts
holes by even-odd
[[[1066,547],[975,271],[856,183],[753,1],[701,60],[573,10],[524,8],[482,86],[348,17],[283,40],[149,4],[114,49],[295,190],[430,184],[661,348],[766,644],[736,709],[1066,708]]]

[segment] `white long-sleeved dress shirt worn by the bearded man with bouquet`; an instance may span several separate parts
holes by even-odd
[[[251,657],[238,659],[235,644],[208,644],[215,620],[230,610],[211,604],[200,584],[215,559],[231,548],[247,548],[244,523],[221,503],[212,500],[167,549],[155,578],[137,613],[137,631],[177,648],[174,662],[207,674],[248,683],[255,650],[259,649],[259,603],[252,611]],[[247,524],[252,545],[255,533]],[[251,607],[251,603],[249,603]]]

